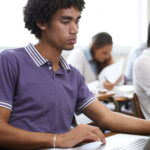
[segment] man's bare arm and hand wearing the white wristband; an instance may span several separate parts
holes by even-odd
[[[0,147],[8,149],[41,149],[53,147],[53,134],[29,132],[8,124],[10,110],[0,107]],[[80,125],[77,128],[59,134],[56,147],[69,148],[84,141],[98,141],[105,143],[102,132],[92,126]]]

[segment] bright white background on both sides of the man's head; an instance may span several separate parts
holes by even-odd
[[[109,32],[116,46],[132,47],[146,39],[145,5],[147,1],[150,3],[150,0],[85,1],[78,45],[88,45],[91,37],[101,31]],[[34,36],[24,28],[23,7],[26,2],[27,0],[0,1],[0,49],[24,46],[28,42],[36,43]]]

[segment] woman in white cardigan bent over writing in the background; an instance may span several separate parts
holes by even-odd
[[[86,83],[96,81],[101,71],[113,63],[112,46],[113,41],[110,34],[98,33],[93,36],[89,47],[73,50],[68,56],[67,62],[80,71]],[[105,79],[100,80],[100,86],[108,90],[111,90],[116,84]]]

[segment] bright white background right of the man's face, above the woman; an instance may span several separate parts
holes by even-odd
[[[86,45],[91,37],[109,32],[117,46],[138,46],[146,41],[147,0],[85,0],[78,43]]]

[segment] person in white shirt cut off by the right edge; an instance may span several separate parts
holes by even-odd
[[[135,61],[133,84],[143,115],[150,120],[150,24],[148,27],[147,49]]]

